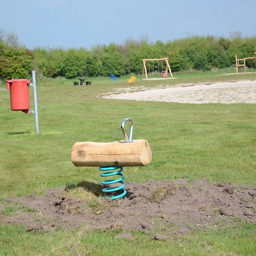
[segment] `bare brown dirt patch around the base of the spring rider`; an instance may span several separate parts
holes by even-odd
[[[0,219],[4,223],[26,225],[28,231],[84,226],[88,230],[124,229],[146,233],[187,232],[214,227],[223,221],[256,222],[256,187],[253,186],[179,179],[148,180],[143,184],[127,182],[125,188],[127,198],[117,201],[95,196],[105,206],[101,210],[97,205],[88,207],[89,203],[68,196],[65,189],[47,189],[43,196],[4,198],[0,201]],[[10,205],[19,207],[8,216],[4,212]]]

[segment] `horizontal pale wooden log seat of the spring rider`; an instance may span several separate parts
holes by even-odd
[[[147,140],[76,142],[71,152],[75,166],[145,166],[152,154]]]

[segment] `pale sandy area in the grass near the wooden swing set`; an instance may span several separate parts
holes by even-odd
[[[123,92],[102,95],[107,99],[167,101],[179,103],[256,103],[256,80],[183,84],[175,87],[143,90],[123,89]]]

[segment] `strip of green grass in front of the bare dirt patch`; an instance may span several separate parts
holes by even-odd
[[[255,225],[192,231],[152,241],[151,234],[131,231],[133,240],[115,239],[123,230],[88,231],[86,227],[55,233],[0,225],[0,255],[255,255]]]

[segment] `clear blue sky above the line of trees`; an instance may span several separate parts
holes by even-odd
[[[147,35],[163,42],[187,35],[256,35],[256,0],[2,0],[0,29],[35,46],[122,44]]]

